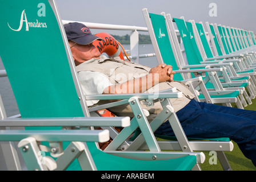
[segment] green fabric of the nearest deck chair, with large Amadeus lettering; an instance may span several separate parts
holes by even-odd
[[[0,56],[21,117],[86,115],[79,101],[65,44],[51,7],[53,4],[53,1],[49,3],[46,0],[1,2]],[[190,170],[197,162],[195,156],[175,160],[131,160],[106,154],[98,150],[93,142],[87,145],[96,167],[101,170]],[[80,167],[74,161],[69,169],[78,170]]]

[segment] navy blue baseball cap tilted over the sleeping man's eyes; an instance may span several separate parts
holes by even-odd
[[[94,42],[94,40],[102,40],[98,36],[91,34],[90,29],[82,23],[70,22],[64,24],[64,28],[66,31],[67,39],[72,40],[78,44],[88,45]]]

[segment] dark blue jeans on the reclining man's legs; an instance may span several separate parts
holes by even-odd
[[[188,138],[228,137],[256,166],[256,111],[191,100],[176,114]],[[155,134],[174,136],[169,122]]]

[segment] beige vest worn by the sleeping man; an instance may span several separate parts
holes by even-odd
[[[121,59],[94,59],[88,63],[82,63],[76,67],[77,72],[81,71],[94,71],[104,73],[110,80],[112,84],[122,84],[128,80],[134,78],[139,78],[145,76],[149,73],[149,67],[135,64],[132,62],[125,62]],[[175,78],[175,76],[174,76]],[[191,99],[194,98],[194,95],[187,89],[187,86],[179,81],[173,82],[161,82],[153,86],[151,89],[147,90],[147,93],[158,92],[159,90],[165,90],[170,88],[177,88],[178,91],[183,93],[182,98],[170,98],[171,104],[174,107],[175,111],[182,109],[187,105]],[[161,105],[159,105],[161,107]],[[154,106],[154,107],[159,107]],[[150,108],[147,107],[149,110]],[[156,111],[158,110],[158,111]],[[153,109],[153,113],[159,113],[162,110],[162,107]],[[119,112],[118,112],[119,113]]]

